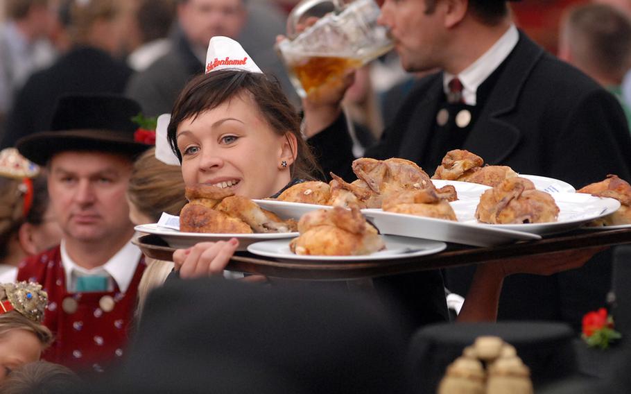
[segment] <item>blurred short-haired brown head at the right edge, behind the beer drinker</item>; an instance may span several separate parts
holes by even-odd
[[[631,124],[622,96],[623,78],[631,67],[631,19],[606,4],[570,8],[562,19],[559,58],[612,92]]]

